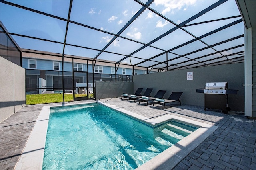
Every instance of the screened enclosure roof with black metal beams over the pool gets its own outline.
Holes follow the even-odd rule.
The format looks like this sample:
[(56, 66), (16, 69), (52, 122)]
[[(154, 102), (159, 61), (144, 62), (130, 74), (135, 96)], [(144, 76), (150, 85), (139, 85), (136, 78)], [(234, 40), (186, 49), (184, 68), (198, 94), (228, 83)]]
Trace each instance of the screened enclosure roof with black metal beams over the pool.
[(160, 70), (244, 62), (234, 0), (0, 2), (0, 20), (22, 49)]

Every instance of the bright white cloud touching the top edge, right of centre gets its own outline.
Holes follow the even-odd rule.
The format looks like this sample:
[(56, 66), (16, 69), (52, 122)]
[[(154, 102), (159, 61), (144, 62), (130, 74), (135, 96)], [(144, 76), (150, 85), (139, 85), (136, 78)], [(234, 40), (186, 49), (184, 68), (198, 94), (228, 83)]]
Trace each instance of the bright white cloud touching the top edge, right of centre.
[[(174, 10), (180, 10), (186, 6), (192, 6), (196, 3), (196, 0), (155, 0), (154, 4), (156, 6), (164, 6), (161, 14), (166, 14), (168, 12), (174, 12)], [(185, 10), (186, 8), (184, 8)]]

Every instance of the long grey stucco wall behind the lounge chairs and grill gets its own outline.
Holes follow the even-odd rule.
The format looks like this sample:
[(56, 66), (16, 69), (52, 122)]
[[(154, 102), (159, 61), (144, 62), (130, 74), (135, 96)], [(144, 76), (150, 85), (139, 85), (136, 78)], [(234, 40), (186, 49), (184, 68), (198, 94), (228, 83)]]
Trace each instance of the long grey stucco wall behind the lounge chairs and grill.
[[(193, 80), (187, 80), (187, 72), (193, 72)], [(164, 98), (173, 91), (183, 92), (181, 102), (204, 106), (204, 94), (196, 89), (204, 88), (206, 82), (228, 82), (228, 89), (238, 89), (237, 95), (228, 95), (229, 107), (234, 111), (244, 111), (244, 63), (208, 66), (185, 70), (158, 72), (133, 76), (134, 90), (153, 88), (151, 96), (158, 90), (167, 90)]]

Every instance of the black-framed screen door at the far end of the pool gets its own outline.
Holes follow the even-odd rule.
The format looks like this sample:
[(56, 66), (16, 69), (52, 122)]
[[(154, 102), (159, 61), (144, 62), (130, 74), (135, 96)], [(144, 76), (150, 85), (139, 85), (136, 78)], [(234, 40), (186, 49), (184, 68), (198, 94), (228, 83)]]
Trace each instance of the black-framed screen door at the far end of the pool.
[(73, 98), (74, 101), (88, 100), (88, 73), (84, 71), (73, 72)]

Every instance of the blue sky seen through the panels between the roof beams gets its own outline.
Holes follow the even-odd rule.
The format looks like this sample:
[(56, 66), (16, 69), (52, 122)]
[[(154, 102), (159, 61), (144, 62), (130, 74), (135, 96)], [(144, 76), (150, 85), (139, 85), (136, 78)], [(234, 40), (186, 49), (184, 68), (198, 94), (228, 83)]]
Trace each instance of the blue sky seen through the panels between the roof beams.
[[(8, 0), (8, 2), (32, 8), (60, 18), (68, 18), (69, 0)], [(146, 2), (147, 1), (141, 1), (141, 3)], [(171, 51), (172, 53), (168, 53), (168, 59), (174, 59), (180, 57), (180, 55), (207, 47), (207, 45), (213, 45), (220, 41), (244, 34), (244, 24), (240, 22), (222, 31), (209, 35), (208, 37), (204, 37), (201, 41), (197, 40), (184, 47), (176, 48), (187, 41), (195, 39), (195, 37), (200, 37), (219, 27), (241, 19), (241, 17), (236, 17), (187, 26), (183, 27), (183, 29), (176, 29), (165, 37), (162, 37), (162, 39), (150, 43), (158, 36), (175, 28), (176, 25), (183, 23), (215, 2), (217, 1), (155, 0), (150, 4), (150, 8), (164, 16), (167, 20), (160, 15), (155, 14), (152, 10), (146, 9), (120, 34), (121, 37), (117, 37), (113, 43), (106, 46), (113, 39), (114, 35), (116, 35), (142, 8), (142, 5), (133, 0), (74, 0), (72, 3), (70, 20), (75, 23), (86, 25), (86, 27), (75, 23), (69, 23), (66, 37), (67, 45), (65, 46), (64, 54), (94, 58), (98, 55), (99, 51), (105, 47), (106, 50), (98, 56), (98, 59), (119, 61), (132, 54), (131, 59), (127, 58), (122, 62), (137, 64), (144, 59), (154, 57), (155, 55), (170, 49), (174, 50)], [(206, 14), (186, 23), (186, 25), (238, 15), (240, 15), (240, 13), (236, 6), (236, 2), (234, 0), (229, 0), (213, 10), (210, 10)], [(4, 3), (0, 3), (0, 20), (10, 33), (64, 43), (67, 25), (66, 21), (57, 20), (50, 16), (37, 14)], [(95, 29), (91, 29), (92, 27)], [(18, 45), (24, 49), (34, 49), (54, 53), (62, 53), (63, 51), (63, 44), (40, 41), (16, 35), (12, 35), (12, 37)], [(134, 53), (134, 51), (144, 47), (147, 43), (150, 43), (153, 47), (145, 47), (137, 53)], [(216, 46), (214, 49), (206, 49), (196, 55), (180, 57), (177, 60), (172, 61), (172, 64), (175, 65), (177, 62), (189, 61), (190, 59), (243, 43), (244, 37)], [(87, 47), (89, 49), (73, 47), (71, 45)], [(227, 55), (234, 51), (240, 51), (240, 49), (224, 51), (215, 56), (219, 57), (221, 55)], [(214, 57), (214, 55), (212, 57)], [(233, 56), (233, 58), (234, 57), (237, 56)], [(157, 61), (165, 60), (166, 54), (153, 59), (153, 61), (140, 64), (140, 66), (147, 67), (156, 64)], [(201, 59), (201, 61), (205, 60)], [(197, 60), (193, 62), (196, 63)]]

